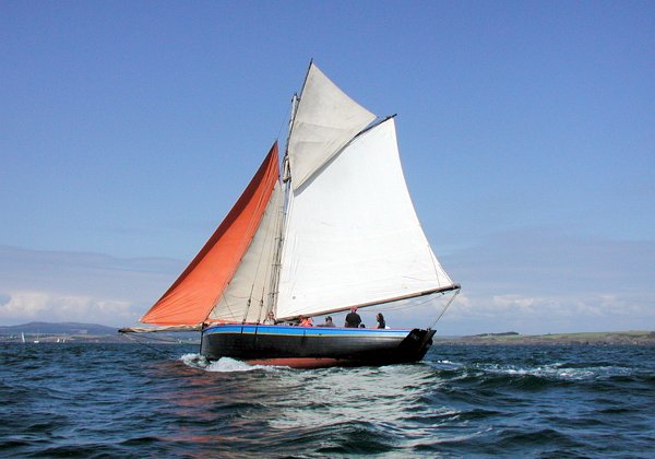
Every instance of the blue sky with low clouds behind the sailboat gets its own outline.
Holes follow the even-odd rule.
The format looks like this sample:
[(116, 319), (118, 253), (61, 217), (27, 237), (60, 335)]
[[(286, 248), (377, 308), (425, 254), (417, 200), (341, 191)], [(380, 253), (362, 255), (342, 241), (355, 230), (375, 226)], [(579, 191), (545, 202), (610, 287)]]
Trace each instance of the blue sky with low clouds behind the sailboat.
[(439, 333), (655, 330), (652, 1), (0, 0), (0, 325), (136, 323), (310, 59), (397, 114)]

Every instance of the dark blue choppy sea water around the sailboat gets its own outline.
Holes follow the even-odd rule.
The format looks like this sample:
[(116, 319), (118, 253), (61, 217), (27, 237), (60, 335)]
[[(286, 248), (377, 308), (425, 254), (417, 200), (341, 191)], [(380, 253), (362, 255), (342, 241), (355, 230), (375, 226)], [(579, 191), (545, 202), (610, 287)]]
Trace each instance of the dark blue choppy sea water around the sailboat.
[(1, 457), (653, 457), (655, 349), (436, 345), (290, 369), (194, 346), (1, 344)]

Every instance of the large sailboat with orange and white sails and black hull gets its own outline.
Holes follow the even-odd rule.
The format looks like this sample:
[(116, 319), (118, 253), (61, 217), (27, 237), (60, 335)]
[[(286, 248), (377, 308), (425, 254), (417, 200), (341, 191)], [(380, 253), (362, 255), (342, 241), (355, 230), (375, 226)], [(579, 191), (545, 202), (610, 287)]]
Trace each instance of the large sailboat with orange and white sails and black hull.
[(409, 363), (425, 356), (434, 330), (299, 320), (458, 292), (412, 204), (394, 117), (379, 119), (311, 62), (293, 98), (282, 164), (275, 142), (204, 247), (140, 319), (159, 327), (120, 331), (200, 330), (210, 361)]

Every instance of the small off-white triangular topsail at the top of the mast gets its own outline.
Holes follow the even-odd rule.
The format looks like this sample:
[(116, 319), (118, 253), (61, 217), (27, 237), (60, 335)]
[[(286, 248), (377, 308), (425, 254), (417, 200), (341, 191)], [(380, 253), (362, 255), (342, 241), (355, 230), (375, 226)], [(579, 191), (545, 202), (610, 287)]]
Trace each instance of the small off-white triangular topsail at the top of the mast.
[(288, 142), (294, 189), (374, 119), (376, 115), (353, 101), (312, 63)]

